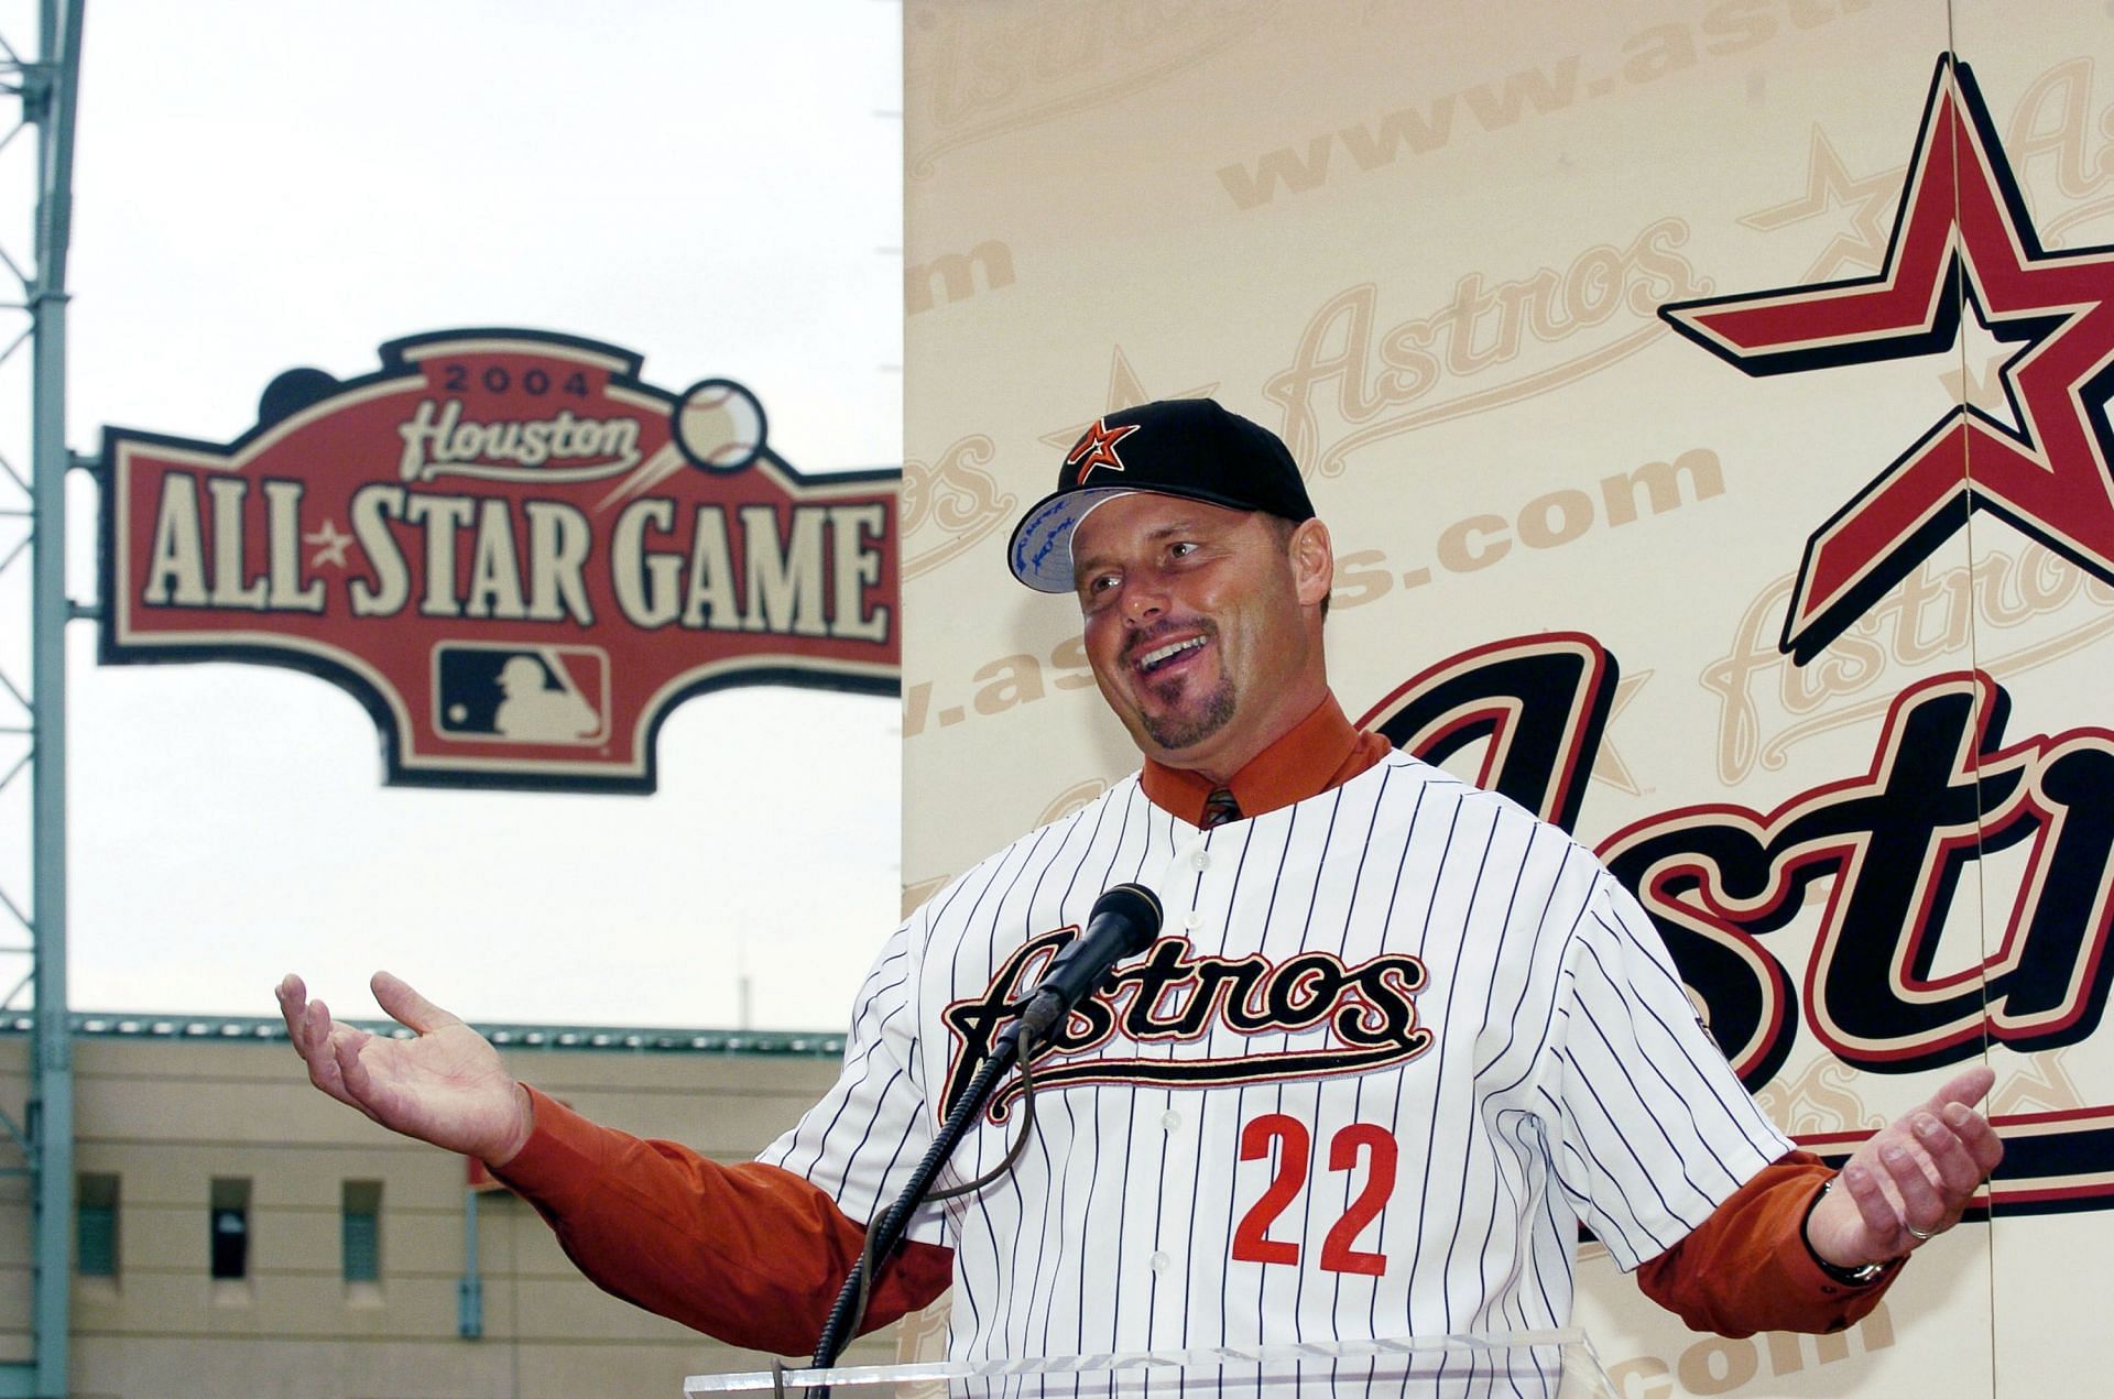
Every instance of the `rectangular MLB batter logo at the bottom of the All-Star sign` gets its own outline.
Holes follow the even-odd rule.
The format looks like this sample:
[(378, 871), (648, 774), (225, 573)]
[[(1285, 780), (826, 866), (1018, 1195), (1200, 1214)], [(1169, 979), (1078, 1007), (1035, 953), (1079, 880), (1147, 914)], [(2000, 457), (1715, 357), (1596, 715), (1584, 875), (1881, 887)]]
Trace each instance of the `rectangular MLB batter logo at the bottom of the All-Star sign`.
[(459, 742), (600, 744), (609, 653), (600, 647), (433, 647), (433, 731)]

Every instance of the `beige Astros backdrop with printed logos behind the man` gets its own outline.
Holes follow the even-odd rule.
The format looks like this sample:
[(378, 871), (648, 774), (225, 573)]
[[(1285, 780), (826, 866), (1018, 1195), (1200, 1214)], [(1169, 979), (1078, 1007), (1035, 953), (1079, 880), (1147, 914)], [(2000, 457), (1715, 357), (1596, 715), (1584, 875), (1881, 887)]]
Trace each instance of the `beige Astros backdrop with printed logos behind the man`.
[[(1930, 99), (1972, 116), (1943, 55), (1987, 125), (1941, 131), (1928, 178), (1983, 131), (2017, 194), (1939, 254), (1968, 245), (1977, 300), (2017, 283), (2038, 311), (1970, 306), (1953, 336), (1947, 277), (1850, 311), (1871, 285), (1805, 292), (1805, 342), (1736, 328), (1769, 374), (1704, 344), (1725, 321), (1676, 334), (1670, 302), (1907, 277)], [(1670, 852), (1651, 907), (1691, 983), (1774, 985), (1778, 1033), (1733, 1048), (1786, 1131), (1846, 1152), (1943, 1061), (1998, 1071), (1994, 1224), (1848, 1338), (1698, 1338), (1588, 1251), (1579, 1317), (1624, 1393), (2078, 1393), (2114, 1283), (2114, 558), (2080, 408), (2114, 357), (2091, 254), (2114, 243), (2110, 57), (2084, 2), (909, 4), (907, 898), (1135, 767), (1076, 611), (1010, 583), (1004, 541), (1097, 414), (1216, 395), (1285, 435), (1334, 526), (1353, 716), (1497, 642), (1611, 657), (1605, 731), (1571, 733), (1575, 833)], [(2021, 353), (2063, 372), (2015, 402)], [(1964, 404), (1985, 416), (1939, 522), (1894, 539), (1852, 511), (1862, 573), (1795, 664), (1807, 539), (1898, 499), (1869, 488)], [(1966, 480), (1987, 509), (1953, 528)], [(1791, 850), (1801, 818), (1829, 833)], [(1763, 888), (1681, 883), (1738, 833), (1778, 841)], [(1742, 1008), (1702, 1000), (1740, 1040)]]

